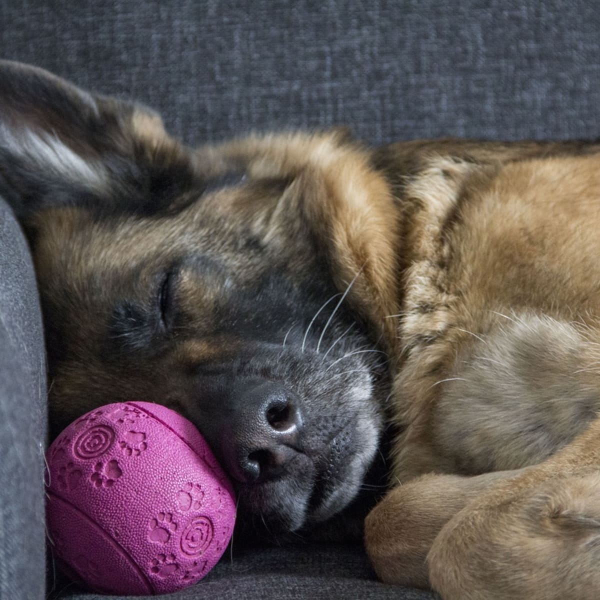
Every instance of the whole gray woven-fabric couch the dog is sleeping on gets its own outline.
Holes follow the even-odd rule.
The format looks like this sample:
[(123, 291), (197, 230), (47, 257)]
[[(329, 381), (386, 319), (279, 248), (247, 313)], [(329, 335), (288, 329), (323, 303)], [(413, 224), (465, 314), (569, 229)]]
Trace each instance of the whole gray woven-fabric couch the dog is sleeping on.
[[(0, 0), (0, 56), (134, 97), (190, 145), (350, 125), (370, 143), (443, 135), (595, 137), (595, 0)], [(0, 107), (1, 110), (1, 107)], [(40, 310), (0, 200), (0, 598), (97, 598), (49, 563)], [(360, 545), (228, 554), (171, 598), (434, 598), (374, 580)]]

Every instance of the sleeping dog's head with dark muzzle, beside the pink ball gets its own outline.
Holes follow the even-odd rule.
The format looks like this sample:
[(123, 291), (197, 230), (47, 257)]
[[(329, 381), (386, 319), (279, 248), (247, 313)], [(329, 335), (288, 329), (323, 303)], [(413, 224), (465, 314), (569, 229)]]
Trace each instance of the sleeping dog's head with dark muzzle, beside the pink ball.
[(199, 427), (241, 515), (296, 530), (356, 496), (397, 311), (366, 154), (339, 133), (189, 151), (147, 109), (4, 62), (0, 194), (32, 245), (54, 433), (153, 401)]

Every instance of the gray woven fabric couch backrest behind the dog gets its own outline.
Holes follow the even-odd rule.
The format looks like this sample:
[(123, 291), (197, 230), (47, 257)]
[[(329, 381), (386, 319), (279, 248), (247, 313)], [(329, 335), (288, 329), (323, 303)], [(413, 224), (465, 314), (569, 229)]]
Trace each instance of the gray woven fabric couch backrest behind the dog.
[(139, 98), (187, 143), (598, 134), (595, 0), (0, 0), (0, 55)]

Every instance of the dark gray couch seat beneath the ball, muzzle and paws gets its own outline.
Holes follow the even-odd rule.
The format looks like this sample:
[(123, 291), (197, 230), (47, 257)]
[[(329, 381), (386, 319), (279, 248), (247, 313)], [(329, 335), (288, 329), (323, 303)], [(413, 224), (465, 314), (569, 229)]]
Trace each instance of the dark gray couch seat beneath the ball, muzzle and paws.
[[(235, 547), (234, 547), (235, 548)], [(61, 600), (122, 600), (68, 587)], [(373, 581), (364, 553), (346, 545), (265, 548), (227, 555), (195, 586), (165, 600), (439, 600), (422, 590)]]

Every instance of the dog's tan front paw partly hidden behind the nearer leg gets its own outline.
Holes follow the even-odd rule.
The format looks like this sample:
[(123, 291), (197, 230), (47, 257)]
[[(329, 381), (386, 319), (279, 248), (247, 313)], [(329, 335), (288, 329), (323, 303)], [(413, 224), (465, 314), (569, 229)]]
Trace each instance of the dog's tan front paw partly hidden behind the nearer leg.
[(442, 527), (491, 485), (518, 473), (425, 475), (395, 487), (365, 521), (365, 543), (377, 576), (387, 583), (430, 587), (427, 554)]

